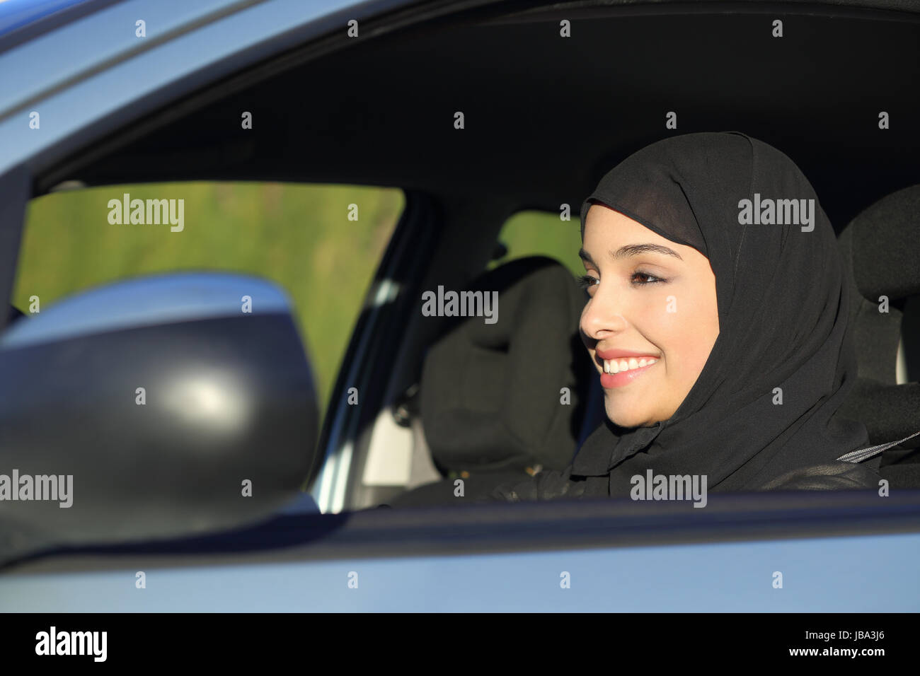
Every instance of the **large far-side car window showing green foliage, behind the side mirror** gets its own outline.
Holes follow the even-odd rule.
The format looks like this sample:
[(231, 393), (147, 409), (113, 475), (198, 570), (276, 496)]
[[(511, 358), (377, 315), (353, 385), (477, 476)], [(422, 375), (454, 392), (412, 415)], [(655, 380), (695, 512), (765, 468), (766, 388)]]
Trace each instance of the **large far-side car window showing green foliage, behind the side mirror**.
[[(131, 223), (133, 200), (156, 201), (144, 223)], [(323, 414), (403, 205), (399, 189), (341, 185), (197, 182), (53, 192), (29, 203), (13, 304), (29, 315), (76, 292), (151, 273), (266, 278), (291, 298)]]

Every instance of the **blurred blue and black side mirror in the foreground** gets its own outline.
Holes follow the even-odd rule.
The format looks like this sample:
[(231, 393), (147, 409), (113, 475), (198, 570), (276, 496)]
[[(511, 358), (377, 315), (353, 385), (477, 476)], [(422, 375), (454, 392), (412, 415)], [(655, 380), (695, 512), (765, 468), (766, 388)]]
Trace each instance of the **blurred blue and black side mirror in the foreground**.
[(268, 516), (316, 452), (313, 375), (274, 284), (113, 284), (0, 335), (0, 560)]

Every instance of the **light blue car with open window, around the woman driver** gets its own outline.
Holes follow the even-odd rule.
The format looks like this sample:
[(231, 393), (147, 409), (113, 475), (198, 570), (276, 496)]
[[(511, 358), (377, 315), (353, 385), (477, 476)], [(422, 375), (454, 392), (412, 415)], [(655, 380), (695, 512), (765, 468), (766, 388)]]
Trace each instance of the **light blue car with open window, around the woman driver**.
[[(0, 3), (0, 292), (18, 305), (0, 314), (0, 609), (920, 610), (918, 11)], [(865, 426), (883, 486), (696, 506), (495, 499), (562, 471), (605, 424), (578, 343), (584, 292), (552, 292), (574, 288), (571, 213), (638, 148), (733, 129), (792, 157), (834, 223), (858, 367), (842, 412)], [(236, 186), (401, 200), (346, 339), (330, 341), (338, 365), (311, 359), (305, 333), (333, 330), (339, 280), (362, 272), (308, 233), (289, 274), (327, 266), (328, 304), (306, 311), (283, 284), (225, 269), (217, 244), (201, 269), (144, 274), (138, 249), (136, 275), (40, 311), (12, 302), (17, 276), (107, 259), (108, 235), (80, 248), (72, 232), (23, 277), (40, 200), (90, 195), (99, 232), (145, 229), (180, 256), (172, 243), (201, 231), (198, 193), (181, 190), (202, 182), (254, 228), (242, 251), (276, 231)], [(118, 188), (143, 184), (178, 187)], [(342, 214), (372, 209), (351, 194)], [(305, 203), (298, 232), (327, 218)], [(521, 214), (552, 235), (514, 244), (530, 236)], [(373, 220), (328, 232), (375, 246)]]

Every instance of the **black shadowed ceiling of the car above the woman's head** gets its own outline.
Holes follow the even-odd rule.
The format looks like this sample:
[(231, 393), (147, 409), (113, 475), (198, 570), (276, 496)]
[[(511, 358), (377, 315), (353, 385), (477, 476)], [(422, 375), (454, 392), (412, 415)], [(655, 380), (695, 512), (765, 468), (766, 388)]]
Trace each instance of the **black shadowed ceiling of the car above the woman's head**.
[[(737, 6), (744, 13), (676, 5), (668, 15), (658, 5), (645, 14), (609, 7), (532, 11), (525, 20), (471, 16), (356, 40), (124, 147), (113, 137), (39, 188), (64, 178), (303, 180), (500, 191), (521, 208), (558, 211), (581, 203), (608, 168), (648, 143), (729, 130), (792, 157), (838, 232), (872, 201), (918, 182), (916, 18)], [(559, 17), (571, 21), (572, 37), (559, 37)], [(771, 37), (775, 18), (782, 38)], [(244, 110), (253, 113), (251, 131), (240, 128)], [(881, 110), (891, 116), (885, 131)], [(456, 111), (464, 130), (454, 129)], [(675, 131), (665, 129), (668, 111), (677, 113)]]

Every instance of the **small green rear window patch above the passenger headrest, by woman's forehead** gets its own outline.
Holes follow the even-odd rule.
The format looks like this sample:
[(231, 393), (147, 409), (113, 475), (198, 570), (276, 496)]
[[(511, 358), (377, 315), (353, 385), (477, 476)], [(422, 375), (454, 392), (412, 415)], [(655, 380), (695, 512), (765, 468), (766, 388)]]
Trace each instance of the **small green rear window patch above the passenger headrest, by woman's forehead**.
[(516, 212), (502, 226), (501, 244), (508, 248), (504, 258), (493, 260), (495, 268), (515, 258), (548, 256), (556, 258), (573, 275), (583, 275), (584, 266), (578, 257), (581, 247), (581, 221), (576, 216), (563, 221), (558, 213), (528, 210)]

